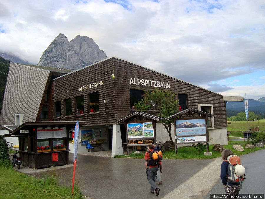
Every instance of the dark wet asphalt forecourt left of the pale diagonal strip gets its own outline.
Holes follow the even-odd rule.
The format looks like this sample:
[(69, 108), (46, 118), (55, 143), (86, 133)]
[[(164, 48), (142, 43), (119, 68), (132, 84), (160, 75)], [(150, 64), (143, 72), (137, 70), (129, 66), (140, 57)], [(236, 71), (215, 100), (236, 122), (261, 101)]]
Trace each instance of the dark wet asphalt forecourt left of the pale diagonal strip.
[[(213, 159), (163, 159), (161, 175), (163, 185), (158, 185), (160, 193), (156, 197), (155, 194), (150, 193), (144, 159), (78, 154), (75, 183), (78, 183), (83, 195), (89, 198), (163, 198), (212, 161)], [(55, 172), (61, 184), (71, 187), (73, 176), (71, 162), (73, 154), (69, 153), (70, 164), (67, 167), (60, 166), (61, 168), (55, 167), (45, 171), (39, 169), (29, 172), (29, 175), (42, 177)]]

